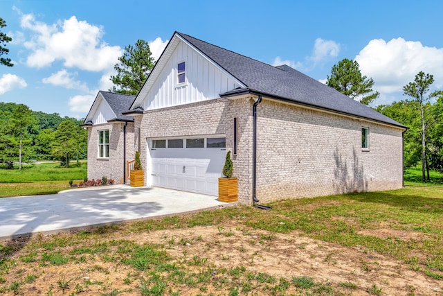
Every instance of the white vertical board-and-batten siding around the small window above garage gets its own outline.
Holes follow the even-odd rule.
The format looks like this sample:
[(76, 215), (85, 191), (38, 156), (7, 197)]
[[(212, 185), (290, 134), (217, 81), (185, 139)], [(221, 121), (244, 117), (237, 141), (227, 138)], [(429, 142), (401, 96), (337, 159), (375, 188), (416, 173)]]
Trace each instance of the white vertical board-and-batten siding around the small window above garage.
[[(185, 83), (177, 84), (177, 64), (186, 63)], [(144, 110), (219, 98), (239, 85), (188, 44), (179, 42), (163, 71), (143, 100)]]

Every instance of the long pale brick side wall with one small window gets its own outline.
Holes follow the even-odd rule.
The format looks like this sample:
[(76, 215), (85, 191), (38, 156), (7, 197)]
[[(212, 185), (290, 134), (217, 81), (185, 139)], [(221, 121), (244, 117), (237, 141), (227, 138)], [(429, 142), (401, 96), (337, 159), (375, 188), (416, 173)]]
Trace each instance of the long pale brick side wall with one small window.
[[(269, 201), (399, 189), (402, 130), (262, 101), (257, 108), (257, 198)], [(369, 150), (361, 128), (369, 128)]]

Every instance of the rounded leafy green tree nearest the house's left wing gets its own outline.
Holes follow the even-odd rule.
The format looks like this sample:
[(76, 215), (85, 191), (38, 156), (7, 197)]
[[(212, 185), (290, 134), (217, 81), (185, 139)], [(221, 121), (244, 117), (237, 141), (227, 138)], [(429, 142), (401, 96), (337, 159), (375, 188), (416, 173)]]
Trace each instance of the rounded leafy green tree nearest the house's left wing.
[(60, 159), (66, 168), (69, 168), (71, 159), (79, 159), (84, 155), (85, 133), (85, 130), (71, 120), (62, 121), (55, 130), (52, 155)]

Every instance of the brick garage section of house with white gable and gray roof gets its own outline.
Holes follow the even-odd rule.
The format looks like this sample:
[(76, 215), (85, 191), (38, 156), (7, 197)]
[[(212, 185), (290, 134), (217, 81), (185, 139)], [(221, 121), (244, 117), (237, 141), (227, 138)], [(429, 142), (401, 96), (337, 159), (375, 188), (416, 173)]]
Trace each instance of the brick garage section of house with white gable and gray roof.
[(404, 125), (287, 65), (183, 33), (128, 109), (147, 186), (217, 196), (227, 150), (245, 204), (403, 184)]

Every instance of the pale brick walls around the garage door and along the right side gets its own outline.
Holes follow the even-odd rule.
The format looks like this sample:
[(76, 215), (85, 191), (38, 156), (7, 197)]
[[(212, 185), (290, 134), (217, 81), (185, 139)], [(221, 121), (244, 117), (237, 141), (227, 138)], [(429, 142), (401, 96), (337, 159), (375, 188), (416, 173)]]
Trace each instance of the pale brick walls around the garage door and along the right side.
[[(141, 128), (141, 162), (152, 137), (226, 134), (233, 150), (233, 118), (238, 121), (239, 202), (251, 204), (253, 99), (215, 99), (150, 110), (136, 115), (134, 147)], [(361, 128), (369, 128), (369, 151), (361, 148)], [(96, 143), (96, 142), (95, 142)], [(257, 198), (313, 197), (402, 186), (402, 130), (264, 99), (257, 107)], [(146, 174), (145, 174), (146, 181)]]

